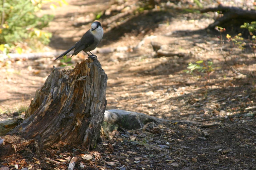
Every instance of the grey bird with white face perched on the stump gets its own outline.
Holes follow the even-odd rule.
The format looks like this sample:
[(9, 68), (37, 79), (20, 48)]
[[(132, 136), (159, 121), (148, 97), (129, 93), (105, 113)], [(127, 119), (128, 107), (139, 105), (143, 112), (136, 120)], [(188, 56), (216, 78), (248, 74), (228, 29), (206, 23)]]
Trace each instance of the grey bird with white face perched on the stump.
[[(86, 31), (86, 33), (82, 36), (82, 38), (70, 49), (63, 52), (59, 57), (57, 57), (54, 61), (59, 59), (60, 57), (63, 57), (66, 55), (69, 51), (74, 50), (73, 55), (77, 55), (80, 51), (84, 51), (88, 57), (91, 57), (92, 59), (97, 59), (97, 56), (91, 53), (92, 50), (94, 50), (99, 43), (101, 42), (103, 37), (103, 28), (101, 26), (101, 23), (98, 21), (94, 21), (91, 24), (91, 29)], [(90, 52), (91, 55), (89, 55), (87, 52)], [(71, 57), (72, 57), (71, 56)]]

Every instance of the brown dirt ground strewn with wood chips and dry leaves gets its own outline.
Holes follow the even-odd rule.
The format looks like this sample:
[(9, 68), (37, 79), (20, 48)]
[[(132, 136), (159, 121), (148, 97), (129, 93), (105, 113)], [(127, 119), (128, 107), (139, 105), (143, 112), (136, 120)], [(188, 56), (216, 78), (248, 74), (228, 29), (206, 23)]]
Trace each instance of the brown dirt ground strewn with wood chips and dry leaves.
[[(93, 159), (80, 158), (75, 169), (256, 169), (256, 59), (250, 48), (234, 48), (227, 61), (246, 76), (230, 70), (219, 50), (219, 33), (205, 29), (213, 22), (213, 14), (188, 13), (183, 8), (195, 4), (171, 1), (165, 10), (135, 12), (108, 23), (118, 13), (118, 7), (125, 12), (137, 8), (139, 2), (68, 3), (55, 11), (43, 11), (56, 16), (46, 28), (53, 33), (47, 48), (50, 51), (70, 48), (90, 28), (96, 15), (115, 9), (99, 19), (105, 30), (99, 48), (107, 50), (96, 55), (108, 75), (106, 110), (122, 109), (168, 120), (216, 125), (150, 123), (145, 130), (120, 130), (92, 152), (70, 145), (45, 151), (42, 157), (62, 159), (59, 163), (43, 161), (41, 156), (26, 150), (7, 158), (3, 166), (67, 169), (70, 157), (91, 154)], [(239, 6), (240, 1), (237, 3)], [(248, 5), (251, 1), (244, 3)], [(184, 55), (157, 55), (152, 42), (166, 44), (168, 51)], [(228, 54), (230, 44), (226, 43), (223, 49)], [(53, 65), (72, 69), (61, 67), (60, 61), (54, 62), (56, 57), (0, 63), (0, 119), (24, 115)], [(70, 63), (75, 65), (86, 57), (79, 53)], [(215, 71), (210, 80), (205, 78), (206, 73), (184, 72), (190, 62), (199, 60), (213, 62)], [(35, 163), (33, 157), (41, 164)]]

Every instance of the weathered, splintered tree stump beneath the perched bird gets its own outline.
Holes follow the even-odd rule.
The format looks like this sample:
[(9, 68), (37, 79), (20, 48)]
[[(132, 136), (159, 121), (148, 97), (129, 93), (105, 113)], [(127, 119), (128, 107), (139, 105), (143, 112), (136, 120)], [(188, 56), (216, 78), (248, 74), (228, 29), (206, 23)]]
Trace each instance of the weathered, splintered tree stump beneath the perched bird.
[(73, 70), (54, 68), (36, 91), (23, 123), (10, 134), (37, 140), (43, 147), (61, 141), (93, 149), (107, 105), (107, 79), (100, 63), (90, 58)]

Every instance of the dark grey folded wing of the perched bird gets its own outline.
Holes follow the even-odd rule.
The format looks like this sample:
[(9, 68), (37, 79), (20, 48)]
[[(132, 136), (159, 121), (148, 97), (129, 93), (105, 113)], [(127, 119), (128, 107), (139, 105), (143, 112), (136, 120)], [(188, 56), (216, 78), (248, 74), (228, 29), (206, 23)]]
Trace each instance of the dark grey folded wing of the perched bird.
[(89, 47), (91, 44), (94, 43), (94, 36), (90, 33), (90, 30), (88, 30), (82, 38), (78, 41), (77, 47), (74, 50), (73, 55), (77, 55), (80, 51), (86, 49)]

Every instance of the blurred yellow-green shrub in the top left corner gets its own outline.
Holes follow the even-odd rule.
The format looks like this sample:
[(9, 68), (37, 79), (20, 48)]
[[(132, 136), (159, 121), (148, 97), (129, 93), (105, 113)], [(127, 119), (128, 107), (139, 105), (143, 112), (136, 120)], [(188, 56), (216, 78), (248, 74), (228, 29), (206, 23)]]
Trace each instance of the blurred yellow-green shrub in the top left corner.
[[(41, 10), (42, 3), (49, 2), (67, 4), (65, 0), (0, 0), (0, 50), (3, 51), (3, 44), (8, 44), (9, 47), (27, 44), (34, 49), (41, 47), (42, 44), (47, 45), (52, 35), (42, 29), (54, 16), (38, 17), (36, 12)], [(50, 7), (52, 8), (53, 4)]]

